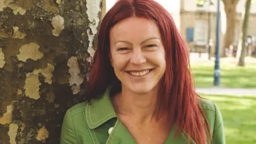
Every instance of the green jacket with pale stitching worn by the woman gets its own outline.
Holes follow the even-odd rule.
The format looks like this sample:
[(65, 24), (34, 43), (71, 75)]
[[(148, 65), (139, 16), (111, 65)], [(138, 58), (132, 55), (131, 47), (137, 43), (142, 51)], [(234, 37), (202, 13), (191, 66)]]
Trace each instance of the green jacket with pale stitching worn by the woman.
[[(225, 143), (223, 133), (223, 122), (220, 110), (215, 103), (208, 100), (201, 100), (205, 110), (207, 120), (213, 133), (213, 143)], [(111, 130), (110, 127), (114, 127)], [(180, 133), (177, 139), (174, 139), (175, 125), (171, 130), (167, 143), (187, 144), (185, 135)], [(91, 102), (79, 103), (67, 110), (63, 119), (60, 144), (101, 144), (101, 143), (135, 143), (131, 134), (125, 126), (116, 117), (113, 106), (109, 98), (109, 90), (103, 94), (103, 97)], [(195, 143), (192, 141), (191, 143)]]

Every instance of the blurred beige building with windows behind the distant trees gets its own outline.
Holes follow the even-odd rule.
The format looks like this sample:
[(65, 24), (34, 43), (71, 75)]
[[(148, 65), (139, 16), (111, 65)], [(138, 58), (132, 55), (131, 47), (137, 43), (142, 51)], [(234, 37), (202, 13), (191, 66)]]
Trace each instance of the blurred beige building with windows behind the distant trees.
[[(235, 41), (234, 49), (236, 49), (239, 41), (239, 33), (242, 26), (242, 12), (244, 11), (244, 5), (246, 0), (240, 0), (237, 4), (236, 11), (236, 29), (235, 29)], [(216, 34), (216, 12), (217, 12), (217, 0), (212, 0), (212, 4), (205, 4), (202, 7), (196, 5), (196, 0), (180, 0), (180, 30), (181, 34), (190, 47), (191, 52), (202, 51), (206, 52), (206, 45), (208, 41), (208, 34), (212, 42), (211, 54), (214, 54), (215, 49), (215, 34)], [(256, 37), (256, 3), (251, 5), (251, 15), (249, 21), (249, 28), (247, 35)], [(221, 1), (221, 22), (220, 22), (220, 46), (223, 44), (223, 36), (226, 32), (226, 13), (224, 11), (224, 5)], [(210, 19), (210, 24), (209, 24)], [(210, 28), (210, 29), (208, 29)], [(255, 39), (255, 38), (254, 38)], [(256, 40), (256, 39), (255, 39)], [(253, 44), (256, 44), (256, 41)]]

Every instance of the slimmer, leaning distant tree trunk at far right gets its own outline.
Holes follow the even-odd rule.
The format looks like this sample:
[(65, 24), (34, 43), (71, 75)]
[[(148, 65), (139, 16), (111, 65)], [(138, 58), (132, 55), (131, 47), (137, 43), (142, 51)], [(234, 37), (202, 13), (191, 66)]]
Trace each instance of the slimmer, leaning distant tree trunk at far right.
[(244, 66), (244, 58), (246, 53), (246, 37), (247, 37), (247, 28), (250, 16), (250, 7), (251, 7), (252, 0), (247, 0), (245, 4), (244, 14), (243, 14), (243, 26), (242, 26), (242, 36), (240, 38), (240, 42), (238, 44), (237, 50), (237, 59), (238, 59), (238, 66)]

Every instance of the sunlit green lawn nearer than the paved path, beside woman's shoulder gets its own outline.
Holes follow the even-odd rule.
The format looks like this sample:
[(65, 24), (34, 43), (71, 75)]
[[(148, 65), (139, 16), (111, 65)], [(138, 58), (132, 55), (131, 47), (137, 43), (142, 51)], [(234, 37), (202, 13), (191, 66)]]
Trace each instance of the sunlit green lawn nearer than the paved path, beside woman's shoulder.
[(256, 143), (256, 97), (202, 95), (217, 103), (225, 126), (226, 143)]

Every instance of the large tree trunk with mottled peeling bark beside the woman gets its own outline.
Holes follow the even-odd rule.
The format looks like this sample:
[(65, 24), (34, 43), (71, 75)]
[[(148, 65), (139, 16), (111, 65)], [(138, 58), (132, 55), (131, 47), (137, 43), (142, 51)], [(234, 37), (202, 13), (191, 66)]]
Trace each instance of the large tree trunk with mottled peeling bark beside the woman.
[(101, 0), (9, 0), (0, 11), (0, 143), (59, 143), (66, 110), (84, 101)]

